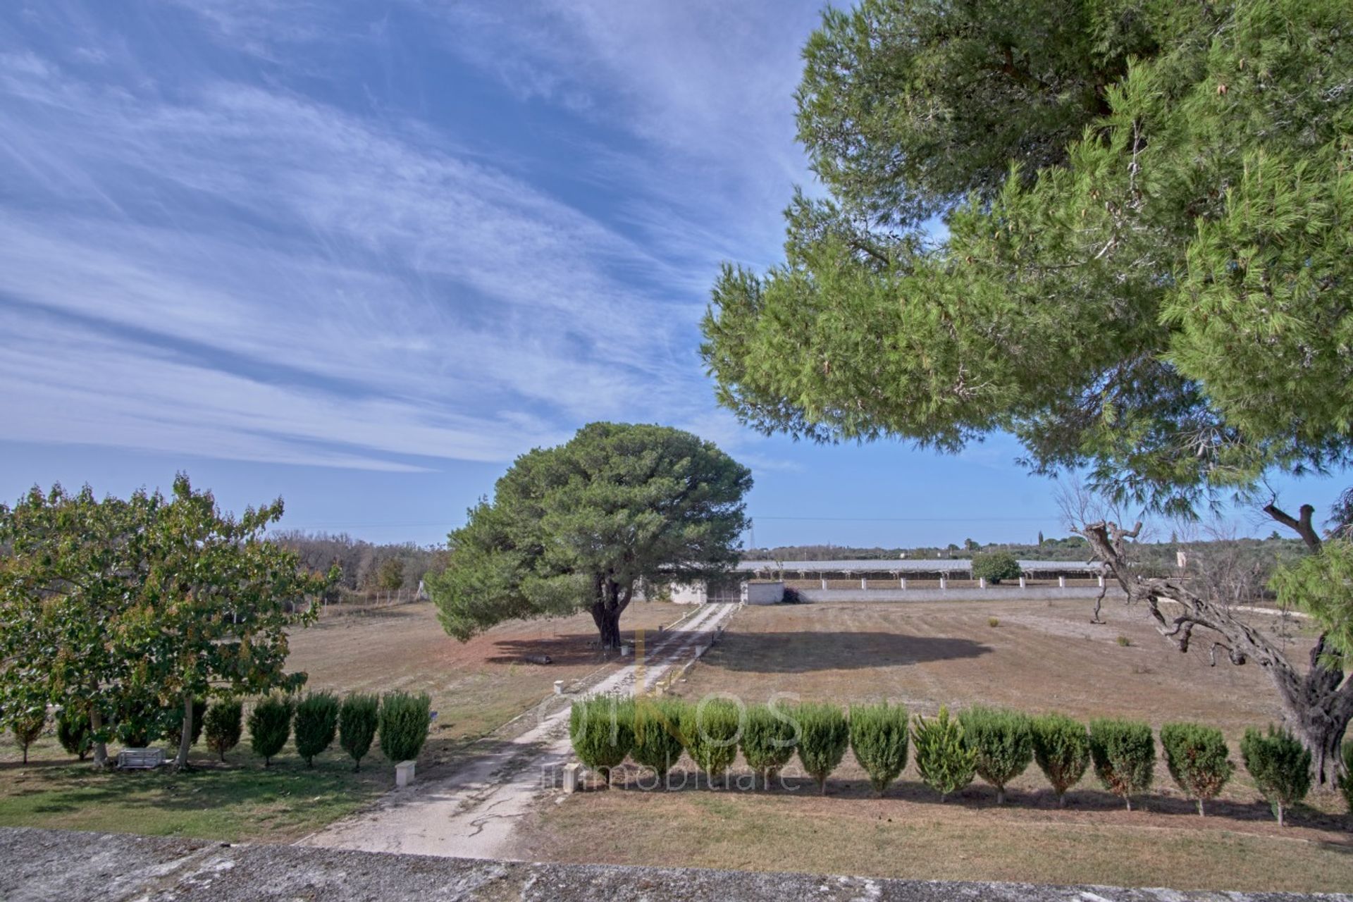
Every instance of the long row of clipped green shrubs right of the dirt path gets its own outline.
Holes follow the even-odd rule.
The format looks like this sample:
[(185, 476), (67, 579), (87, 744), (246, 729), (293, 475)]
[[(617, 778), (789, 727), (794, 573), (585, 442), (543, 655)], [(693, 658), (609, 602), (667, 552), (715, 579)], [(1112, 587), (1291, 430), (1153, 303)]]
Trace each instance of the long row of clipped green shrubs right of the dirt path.
[[(957, 717), (942, 707), (927, 718), (888, 703), (852, 705), (847, 714), (817, 702), (744, 709), (725, 699), (691, 705), (595, 696), (574, 702), (570, 738), (579, 760), (607, 783), (626, 757), (662, 779), (686, 752), (713, 784), (740, 749), (767, 788), (797, 753), (804, 771), (825, 791), (848, 746), (882, 795), (905, 769), (912, 749), (921, 780), (942, 801), (980, 776), (996, 788), (997, 805), (1004, 805), (1005, 787), (1036, 764), (1058, 803), (1065, 805), (1066, 791), (1093, 767), (1100, 784), (1128, 810), (1134, 797), (1150, 790), (1157, 757), (1147, 723), (1096, 718), (1085, 725), (1063, 714), (1028, 715), (982, 706)], [(1226, 738), (1211, 726), (1166, 723), (1160, 740), (1170, 778), (1201, 815), (1204, 803), (1216, 798), (1235, 772)], [(1311, 788), (1310, 752), (1287, 730), (1270, 726), (1266, 733), (1246, 730), (1241, 757), (1283, 824), (1287, 809)], [(1345, 744), (1344, 757), (1353, 769), (1353, 741)], [(1353, 779), (1345, 779), (1342, 788), (1353, 810)]]

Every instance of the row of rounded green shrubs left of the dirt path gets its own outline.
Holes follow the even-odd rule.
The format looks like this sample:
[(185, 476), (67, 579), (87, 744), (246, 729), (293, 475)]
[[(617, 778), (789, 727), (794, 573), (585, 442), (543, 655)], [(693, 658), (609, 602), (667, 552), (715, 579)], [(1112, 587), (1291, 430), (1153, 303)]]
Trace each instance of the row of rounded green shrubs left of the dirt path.
[[(257, 699), (249, 710), (249, 746), (262, 759), (264, 767), (272, 765), (295, 740), (296, 753), (306, 760), (306, 767), (314, 767), (317, 756), (326, 752), (338, 740), (338, 745), (353, 760), (353, 769), (361, 769), (361, 759), (371, 751), (373, 741), (380, 742), (380, 751), (391, 761), (406, 761), (418, 757), (432, 719), (432, 699), (426, 692), (386, 692), (383, 696), (352, 692), (340, 699), (333, 692), (308, 692), (304, 696), (265, 695)], [(239, 744), (244, 736), (244, 702), (238, 698), (221, 698), (210, 706), (206, 701), (193, 703), (192, 745), (206, 738), (207, 748), (226, 760), (226, 753)], [(46, 711), (34, 711), (24, 718), (12, 721), (15, 742), (28, 760), (28, 746), (37, 741), (46, 726)], [(89, 719), (68, 715), (61, 711), (55, 717), (57, 740), (61, 746), (80, 760), (89, 753), (93, 738)], [(141, 737), (138, 737), (141, 738)], [(145, 738), (149, 744), (156, 737)], [(179, 733), (165, 737), (172, 745), (179, 745)]]

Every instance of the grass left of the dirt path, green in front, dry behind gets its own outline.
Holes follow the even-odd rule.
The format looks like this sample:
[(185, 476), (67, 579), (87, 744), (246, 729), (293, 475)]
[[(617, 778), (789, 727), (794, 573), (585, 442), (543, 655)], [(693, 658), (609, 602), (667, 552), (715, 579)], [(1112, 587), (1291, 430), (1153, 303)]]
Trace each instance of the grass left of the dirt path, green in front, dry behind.
[[(636, 603), (626, 630), (656, 629), (689, 609)], [(553, 692), (553, 682), (617, 665), (589, 646), (595, 627), (586, 614), (557, 621), (505, 623), (460, 644), (437, 622), (432, 604), (340, 606), (292, 637), (288, 665), (310, 675), (311, 688), (426, 691), (438, 711), (419, 756), (419, 775), (453, 767), (476, 737)], [(525, 656), (549, 655), (551, 664)], [(491, 742), (492, 740), (484, 740)], [(116, 746), (110, 748), (111, 752)], [(360, 774), (337, 744), (306, 768), (288, 748), (264, 769), (249, 738), (221, 764), (203, 746), (187, 774), (95, 772), (68, 756), (50, 730), (30, 749), (28, 764), (5, 736), (0, 744), (0, 826), (47, 826), (229, 841), (287, 841), (368, 805), (394, 784), (392, 768), (372, 748)]]

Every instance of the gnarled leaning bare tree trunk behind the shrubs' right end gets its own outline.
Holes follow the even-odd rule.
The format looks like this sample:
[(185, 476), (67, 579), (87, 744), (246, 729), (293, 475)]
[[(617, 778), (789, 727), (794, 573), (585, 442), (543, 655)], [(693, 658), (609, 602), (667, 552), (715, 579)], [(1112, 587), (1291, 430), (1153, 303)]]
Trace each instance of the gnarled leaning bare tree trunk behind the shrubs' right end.
[[(1270, 506), (1272, 507), (1272, 506)], [(1279, 522), (1292, 521), (1312, 549), (1318, 550), (1318, 540), (1310, 541), (1310, 504), (1302, 508), (1302, 521), (1273, 513)], [(1285, 519), (1284, 519), (1285, 518)], [(1137, 529), (1141, 529), (1138, 525)], [(1311, 764), (1321, 786), (1338, 786), (1342, 771), (1339, 744), (1353, 719), (1353, 679), (1345, 679), (1342, 663), (1331, 661), (1327, 667), (1322, 659), (1331, 657), (1325, 636), (1321, 636), (1311, 649), (1311, 665), (1302, 673), (1287, 660), (1283, 649), (1264, 633), (1243, 623), (1231, 614), (1229, 606), (1211, 602), (1181, 580), (1134, 575), (1127, 563), (1124, 540), (1137, 536), (1137, 529), (1124, 530), (1116, 523), (1088, 523), (1082, 534), (1095, 549), (1095, 556), (1104, 561), (1109, 572), (1127, 592), (1128, 603), (1145, 603), (1155, 630), (1173, 642), (1181, 652), (1188, 652), (1193, 630), (1212, 633), (1211, 657), (1216, 664), (1218, 650), (1226, 653), (1233, 664), (1257, 663), (1273, 680), (1283, 701), (1283, 711), (1288, 726), (1307, 749), (1311, 751)], [(1162, 603), (1174, 602), (1168, 610)], [(1176, 607), (1177, 604), (1177, 607)]]

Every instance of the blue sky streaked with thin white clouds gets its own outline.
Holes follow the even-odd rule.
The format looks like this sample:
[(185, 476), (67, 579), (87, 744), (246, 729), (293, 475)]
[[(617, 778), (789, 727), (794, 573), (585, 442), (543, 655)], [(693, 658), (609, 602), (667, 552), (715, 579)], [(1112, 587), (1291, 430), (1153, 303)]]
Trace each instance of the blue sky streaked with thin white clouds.
[(0, 496), (185, 469), (285, 525), (433, 542), (515, 454), (617, 419), (752, 467), (762, 545), (1063, 531), (1007, 437), (819, 448), (713, 403), (717, 266), (774, 262), (812, 188), (819, 7), (9, 0)]

